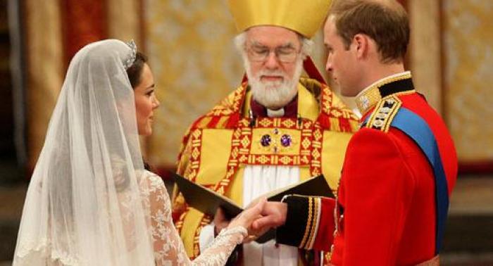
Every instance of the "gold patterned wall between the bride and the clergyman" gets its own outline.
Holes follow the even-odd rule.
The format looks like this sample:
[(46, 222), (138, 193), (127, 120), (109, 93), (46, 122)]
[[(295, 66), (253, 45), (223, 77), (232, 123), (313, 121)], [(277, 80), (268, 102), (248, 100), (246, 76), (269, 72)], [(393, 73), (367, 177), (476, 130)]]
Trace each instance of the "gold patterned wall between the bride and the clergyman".
[(161, 107), (148, 159), (173, 166), (182, 135), (242, 80), (226, 1), (144, 1), (146, 48)]

